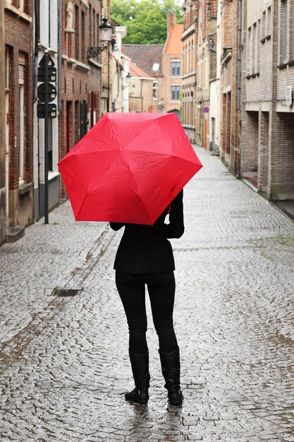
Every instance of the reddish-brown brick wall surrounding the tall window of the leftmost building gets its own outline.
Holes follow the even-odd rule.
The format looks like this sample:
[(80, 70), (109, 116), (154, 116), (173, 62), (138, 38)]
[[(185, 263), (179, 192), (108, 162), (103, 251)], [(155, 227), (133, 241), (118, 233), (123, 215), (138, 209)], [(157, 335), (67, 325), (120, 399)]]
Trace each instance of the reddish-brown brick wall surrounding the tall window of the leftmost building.
[(32, 222), (32, 189), (20, 195), (20, 94), (19, 63), (24, 62), (24, 126), (23, 126), (23, 181), (33, 180), (32, 149), (32, 1), (25, 2), (25, 10), (20, 11), (18, 4), (4, 4), (5, 44), (9, 59), (9, 219), (12, 226), (27, 225)]

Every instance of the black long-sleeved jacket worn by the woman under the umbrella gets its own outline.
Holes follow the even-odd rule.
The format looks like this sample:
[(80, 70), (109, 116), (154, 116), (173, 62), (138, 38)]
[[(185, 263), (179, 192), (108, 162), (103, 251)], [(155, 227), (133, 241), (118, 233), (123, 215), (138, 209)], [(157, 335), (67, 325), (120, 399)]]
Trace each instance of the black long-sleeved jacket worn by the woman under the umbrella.
[[(165, 224), (168, 212), (169, 224)], [(183, 190), (152, 226), (120, 222), (111, 222), (110, 226), (114, 230), (125, 226), (114, 261), (116, 270), (128, 273), (164, 273), (175, 270), (173, 249), (168, 238), (180, 238), (184, 233)]]

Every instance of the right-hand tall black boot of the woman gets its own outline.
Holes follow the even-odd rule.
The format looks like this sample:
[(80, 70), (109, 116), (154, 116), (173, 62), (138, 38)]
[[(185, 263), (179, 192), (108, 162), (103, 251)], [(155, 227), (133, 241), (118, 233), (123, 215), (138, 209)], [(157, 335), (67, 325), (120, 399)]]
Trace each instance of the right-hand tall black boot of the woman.
[(159, 350), (159, 356), (169, 402), (171, 405), (180, 405), (183, 401), (183, 394), (180, 391), (180, 350), (177, 348), (171, 353)]

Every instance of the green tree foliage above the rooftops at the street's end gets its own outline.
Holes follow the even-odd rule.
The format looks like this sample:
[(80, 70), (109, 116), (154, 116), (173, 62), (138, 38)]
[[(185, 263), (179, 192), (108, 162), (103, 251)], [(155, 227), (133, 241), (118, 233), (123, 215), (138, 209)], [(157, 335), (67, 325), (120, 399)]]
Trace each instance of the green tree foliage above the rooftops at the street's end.
[(176, 13), (177, 23), (183, 22), (176, 0), (111, 0), (111, 17), (128, 27), (123, 43), (164, 44), (169, 11)]

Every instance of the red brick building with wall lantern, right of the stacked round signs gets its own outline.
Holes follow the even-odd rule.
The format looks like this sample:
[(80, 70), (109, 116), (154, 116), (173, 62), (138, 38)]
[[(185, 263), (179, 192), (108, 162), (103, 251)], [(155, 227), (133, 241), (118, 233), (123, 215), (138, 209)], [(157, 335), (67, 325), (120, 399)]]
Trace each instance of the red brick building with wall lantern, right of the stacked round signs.
[[(109, 59), (111, 48), (94, 56), (88, 47), (102, 47), (99, 25), (102, 1), (63, 1), (62, 90), (60, 157), (64, 157), (109, 106)], [(102, 56), (105, 79), (102, 84)], [(102, 94), (102, 87), (104, 93)], [(100, 103), (105, 98), (103, 107)], [(100, 100), (101, 99), (101, 100)], [(64, 196), (61, 188), (61, 196)]]

